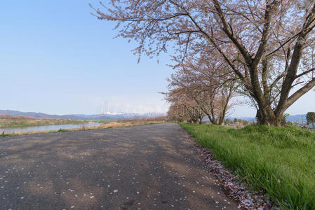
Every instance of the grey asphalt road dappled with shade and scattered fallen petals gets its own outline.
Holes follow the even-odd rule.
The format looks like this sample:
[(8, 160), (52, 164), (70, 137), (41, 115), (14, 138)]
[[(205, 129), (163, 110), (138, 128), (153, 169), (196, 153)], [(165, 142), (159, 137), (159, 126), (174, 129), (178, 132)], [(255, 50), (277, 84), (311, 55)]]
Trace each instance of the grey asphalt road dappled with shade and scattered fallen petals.
[(237, 209), (174, 123), (0, 137), (0, 209)]

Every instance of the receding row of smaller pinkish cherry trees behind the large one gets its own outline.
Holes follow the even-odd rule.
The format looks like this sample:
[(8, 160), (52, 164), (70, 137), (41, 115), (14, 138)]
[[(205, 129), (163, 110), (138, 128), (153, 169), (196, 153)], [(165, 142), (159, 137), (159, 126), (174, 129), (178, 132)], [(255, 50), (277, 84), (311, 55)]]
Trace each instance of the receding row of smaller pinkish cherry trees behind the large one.
[(229, 68), (215, 55), (212, 59), (190, 57), (175, 66), (177, 71), (169, 79), (166, 100), (170, 102), (171, 120), (201, 123), (208, 117), (210, 123), (222, 125), (235, 102), (238, 85)]

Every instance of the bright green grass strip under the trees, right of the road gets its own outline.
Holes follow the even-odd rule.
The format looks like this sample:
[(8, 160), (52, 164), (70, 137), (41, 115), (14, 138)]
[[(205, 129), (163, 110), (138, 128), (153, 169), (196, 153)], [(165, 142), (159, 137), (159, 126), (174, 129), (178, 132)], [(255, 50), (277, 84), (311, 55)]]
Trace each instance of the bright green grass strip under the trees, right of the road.
[(315, 132), (293, 126), (180, 126), (282, 209), (315, 209)]

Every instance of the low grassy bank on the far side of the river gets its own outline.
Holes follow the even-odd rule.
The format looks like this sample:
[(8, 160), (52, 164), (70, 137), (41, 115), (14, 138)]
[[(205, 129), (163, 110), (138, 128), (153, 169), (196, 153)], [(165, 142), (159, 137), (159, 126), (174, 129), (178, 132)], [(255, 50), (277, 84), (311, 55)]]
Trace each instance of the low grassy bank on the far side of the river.
[(82, 124), (87, 123), (83, 120), (11, 120), (11, 119), (0, 119), (0, 128), (8, 127), (31, 127), (41, 125), (62, 125), (62, 124)]

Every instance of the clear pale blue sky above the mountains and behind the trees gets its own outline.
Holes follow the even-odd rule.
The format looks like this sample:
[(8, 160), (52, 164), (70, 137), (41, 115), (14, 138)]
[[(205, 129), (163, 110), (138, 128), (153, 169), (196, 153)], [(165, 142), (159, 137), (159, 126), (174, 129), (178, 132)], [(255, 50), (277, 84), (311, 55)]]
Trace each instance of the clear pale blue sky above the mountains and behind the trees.
[[(113, 23), (97, 20), (88, 3), (99, 1), (0, 1), (0, 109), (43, 113), (98, 113), (111, 106), (166, 111), (160, 91), (173, 69), (169, 57), (130, 52), (134, 43), (114, 38)], [(288, 110), (314, 111), (314, 91)], [(238, 106), (233, 116), (254, 116)]]

